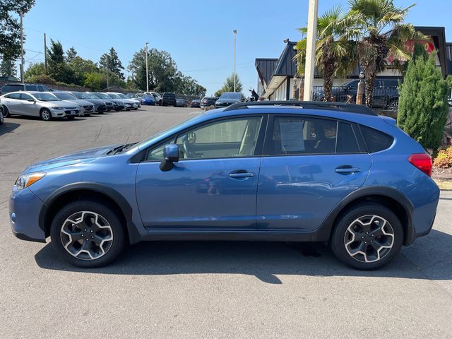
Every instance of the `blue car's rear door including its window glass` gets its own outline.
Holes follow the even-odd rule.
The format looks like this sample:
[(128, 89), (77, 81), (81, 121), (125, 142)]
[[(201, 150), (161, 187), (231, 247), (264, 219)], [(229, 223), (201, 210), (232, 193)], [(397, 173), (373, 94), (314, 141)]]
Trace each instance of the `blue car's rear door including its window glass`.
[(347, 121), (271, 117), (261, 160), (258, 230), (313, 231), (364, 184), (371, 158)]

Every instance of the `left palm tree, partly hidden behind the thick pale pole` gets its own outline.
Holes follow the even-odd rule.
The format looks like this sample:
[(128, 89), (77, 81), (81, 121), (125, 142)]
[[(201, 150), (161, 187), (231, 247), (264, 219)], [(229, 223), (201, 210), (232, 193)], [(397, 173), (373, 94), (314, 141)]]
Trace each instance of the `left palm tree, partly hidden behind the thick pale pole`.
[[(323, 100), (333, 100), (331, 90), (334, 78), (345, 78), (355, 68), (356, 58), (354, 42), (348, 40), (343, 26), (345, 15), (342, 6), (335, 6), (317, 19), (316, 58), (315, 65), (323, 76)], [(306, 59), (307, 28), (299, 28), (304, 36), (297, 42), (297, 72), (304, 74)]]

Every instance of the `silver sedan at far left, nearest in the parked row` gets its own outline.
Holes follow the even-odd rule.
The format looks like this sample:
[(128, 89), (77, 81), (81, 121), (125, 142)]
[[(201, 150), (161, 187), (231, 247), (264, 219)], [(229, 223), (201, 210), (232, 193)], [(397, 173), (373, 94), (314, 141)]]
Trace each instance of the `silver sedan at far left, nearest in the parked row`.
[(11, 92), (0, 97), (4, 117), (10, 114), (41, 117), (44, 121), (53, 118), (73, 119), (80, 114), (80, 105), (60, 100), (46, 92)]

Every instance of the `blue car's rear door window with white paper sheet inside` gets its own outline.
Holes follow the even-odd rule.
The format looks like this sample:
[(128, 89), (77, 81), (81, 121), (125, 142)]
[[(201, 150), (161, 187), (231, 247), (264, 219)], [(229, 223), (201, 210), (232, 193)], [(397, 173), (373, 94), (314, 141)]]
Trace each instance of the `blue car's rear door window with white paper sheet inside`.
[(337, 121), (275, 117), (268, 145), (270, 155), (335, 153)]

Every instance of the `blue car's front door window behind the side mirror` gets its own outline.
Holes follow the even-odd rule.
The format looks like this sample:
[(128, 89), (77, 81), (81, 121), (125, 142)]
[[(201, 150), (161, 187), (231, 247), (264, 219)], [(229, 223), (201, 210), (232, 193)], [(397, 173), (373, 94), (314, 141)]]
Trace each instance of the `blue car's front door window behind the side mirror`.
[[(262, 117), (234, 118), (195, 127), (177, 136), (179, 157), (218, 159), (254, 155)], [(174, 139), (150, 150), (147, 160), (162, 160), (163, 149)]]

